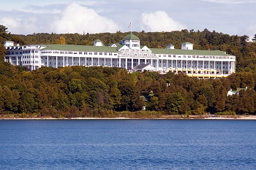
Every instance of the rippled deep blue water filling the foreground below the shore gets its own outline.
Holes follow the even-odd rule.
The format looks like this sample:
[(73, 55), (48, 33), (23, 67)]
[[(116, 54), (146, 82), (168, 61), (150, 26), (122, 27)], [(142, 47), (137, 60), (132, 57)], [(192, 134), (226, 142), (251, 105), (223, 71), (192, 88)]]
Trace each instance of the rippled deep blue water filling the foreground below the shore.
[(0, 120), (0, 169), (255, 168), (255, 120)]

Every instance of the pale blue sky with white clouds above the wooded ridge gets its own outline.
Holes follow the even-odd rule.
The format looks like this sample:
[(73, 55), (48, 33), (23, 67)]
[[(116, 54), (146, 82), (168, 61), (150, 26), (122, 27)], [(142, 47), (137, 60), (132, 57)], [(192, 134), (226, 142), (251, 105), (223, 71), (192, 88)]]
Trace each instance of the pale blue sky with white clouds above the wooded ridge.
[(24, 35), (207, 28), (252, 38), (256, 34), (256, 0), (1, 1), (0, 25), (12, 34)]

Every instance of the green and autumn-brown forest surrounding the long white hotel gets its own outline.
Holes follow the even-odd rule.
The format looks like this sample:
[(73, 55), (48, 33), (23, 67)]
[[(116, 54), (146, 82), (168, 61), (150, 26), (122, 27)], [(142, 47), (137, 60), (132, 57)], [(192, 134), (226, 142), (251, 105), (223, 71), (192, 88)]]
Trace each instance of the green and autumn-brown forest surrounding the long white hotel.
[[(200, 80), (186, 74), (133, 72), (116, 67), (72, 66), (26, 68), (4, 62), (4, 41), (20, 45), (105, 45), (128, 33), (11, 34), (0, 25), (0, 114), (39, 117), (161, 117), (162, 115), (255, 115), (256, 34), (237, 36), (216, 31), (133, 32), (140, 44), (165, 48), (192, 42), (197, 50), (223, 50), (236, 55), (236, 73)], [(252, 41), (249, 41), (252, 40)], [(227, 91), (246, 88), (227, 96)]]

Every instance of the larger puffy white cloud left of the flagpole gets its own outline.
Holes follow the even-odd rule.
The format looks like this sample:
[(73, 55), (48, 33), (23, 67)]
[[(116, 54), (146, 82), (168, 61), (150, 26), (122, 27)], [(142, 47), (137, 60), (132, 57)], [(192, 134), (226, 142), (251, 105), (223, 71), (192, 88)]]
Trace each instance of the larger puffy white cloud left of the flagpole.
[(86, 33), (116, 32), (119, 26), (108, 18), (102, 17), (87, 7), (75, 2), (67, 5), (61, 12), (61, 17), (52, 23), (53, 31), (57, 33)]

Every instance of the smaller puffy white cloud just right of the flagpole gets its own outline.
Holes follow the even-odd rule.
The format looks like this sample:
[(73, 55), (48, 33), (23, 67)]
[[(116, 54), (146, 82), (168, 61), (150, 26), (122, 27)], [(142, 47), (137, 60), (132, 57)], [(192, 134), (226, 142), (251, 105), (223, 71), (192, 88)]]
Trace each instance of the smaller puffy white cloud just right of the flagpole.
[(170, 18), (166, 12), (143, 13), (141, 15), (141, 29), (144, 31), (179, 31), (187, 26)]

